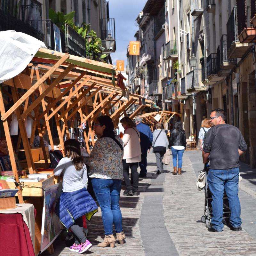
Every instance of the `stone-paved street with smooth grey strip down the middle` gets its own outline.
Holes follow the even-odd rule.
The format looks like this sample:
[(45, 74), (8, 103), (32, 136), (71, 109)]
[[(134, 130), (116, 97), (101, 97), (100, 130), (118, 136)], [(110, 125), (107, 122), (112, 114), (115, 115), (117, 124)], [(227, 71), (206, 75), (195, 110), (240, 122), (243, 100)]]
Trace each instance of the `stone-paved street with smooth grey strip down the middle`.
[[(197, 174), (202, 168), (201, 151), (185, 151), (183, 175), (171, 174), (172, 162), (164, 166), (163, 174), (156, 175), (155, 155), (149, 153), (148, 176), (140, 179), (140, 195), (120, 198), (126, 243), (116, 244), (114, 249), (97, 247), (104, 236), (99, 211), (87, 223), (88, 239), (94, 245), (87, 253), (95, 256), (256, 255), (256, 180), (252, 179), (252, 170), (241, 164), (243, 180), (239, 197), (243, 230), (234, 232), (224, 226), (223, 232), (210, 233), (201, 222), (204, 191), (196, 189)], [(76, 255), (65, 247), (61, 236), (54, 242), (54, 251), (56, 256)]]

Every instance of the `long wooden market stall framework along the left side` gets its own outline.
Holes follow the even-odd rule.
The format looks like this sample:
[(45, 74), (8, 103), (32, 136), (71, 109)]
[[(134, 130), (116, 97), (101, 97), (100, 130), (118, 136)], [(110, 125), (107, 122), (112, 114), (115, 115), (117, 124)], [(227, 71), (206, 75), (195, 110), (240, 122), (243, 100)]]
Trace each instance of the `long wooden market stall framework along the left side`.
[[(29, 174), (40, 172), (40, 168), (49, 166), (48, 148), (44, 146), (43, 131), (47, 130), (53, 149), (56, 147), (56, 140), (52, 134), (51, 124), (54, 123), (58, 134), (57, 145), (63, 149), (64, 138), (70, 138), (69, 129), (77, 125), (78, 121), (88, 124), (88, 129), (84, 130), (84, 139), (89, 152), (89, 143), (94, 145), (92, 122), (100, 113), (109, 115), (117, 126), (120, 116), (126, 115), (126, 111), (134, 104), (139, 107), (131, 117), (135, 117), (145, 106), (152, 105), (149, 100), (142, 104), (141, 96), (130, 93), (124, 86), (123, 79), (116, 66), (40, 48), (20, 74), (0, 85), (1, 121), (15, 177), (15, 183), (5, 180), (1, 182), (4, 188), (19, 189), (19, 203), (24, 203), (23, 196), (28, 196), (26, 202), (34, 204), (37, 209), (36, 253), (40, 251), (40, 216), (43, 214), (44, 189), (57, 181), (51, 175), (35, 183), (25, 182), (23, 187), (19, 180), (15, 152), (24, 152), (26, 160), (22, 165), (23, 168), (28, 168)], [(19, 126), (15, 148), (10, 135), (10, 123), (14, 113)], [(27, 118), (32, 119), (30, 139), (25, 125)], [(36, 130), (40, 137), (40, 161), (35, 161), (38, 159), (34, 156), (33, 140)], [(21, 142), (23, 149), (20, 148)]]

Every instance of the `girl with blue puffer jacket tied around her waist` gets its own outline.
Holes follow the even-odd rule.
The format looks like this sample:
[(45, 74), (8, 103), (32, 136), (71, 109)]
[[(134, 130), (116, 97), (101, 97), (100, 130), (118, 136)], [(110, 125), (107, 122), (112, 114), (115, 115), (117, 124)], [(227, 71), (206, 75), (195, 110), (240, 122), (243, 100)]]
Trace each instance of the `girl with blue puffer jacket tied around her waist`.
[(83, 232), (82, 216), (98, 211), (98, 206), (87, 191), (87, 170), (80, 152), (80, 143), (70, 139), (64, 142), (65, 157), (54, 169), (55, 176), (63, 175), (62, 193), (56, 205), (56, 213), (62, 224), (70, 228), (75, 243), (72, 252), (83, 253), (92, 247)]

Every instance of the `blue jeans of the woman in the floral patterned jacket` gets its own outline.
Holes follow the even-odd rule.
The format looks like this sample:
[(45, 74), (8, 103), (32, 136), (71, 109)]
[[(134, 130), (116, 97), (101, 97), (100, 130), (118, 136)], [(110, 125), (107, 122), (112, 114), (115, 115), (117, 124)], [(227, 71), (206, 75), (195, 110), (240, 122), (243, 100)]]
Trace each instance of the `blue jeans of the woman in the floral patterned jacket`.
[(119, 207), (119, 197), (122, 180), (92, 179), (92, 188), (98, 203), (105, 235), (113, 234), (113, 223), (116, 233), (123, 231), (122, 213)]

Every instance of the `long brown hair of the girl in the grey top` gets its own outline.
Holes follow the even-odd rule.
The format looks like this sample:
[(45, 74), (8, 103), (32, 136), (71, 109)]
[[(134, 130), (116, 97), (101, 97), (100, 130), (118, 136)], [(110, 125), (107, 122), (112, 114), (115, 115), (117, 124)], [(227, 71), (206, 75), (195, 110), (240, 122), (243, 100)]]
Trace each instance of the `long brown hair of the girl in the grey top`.
[(83, 168), (84, 161), (81, 156), (80, 143), (75, 139), (69, 139), (64, 142), (65, 156), (72, 159), (75, 165), (76, 171), (80, 171)]

